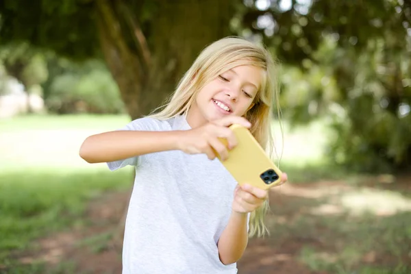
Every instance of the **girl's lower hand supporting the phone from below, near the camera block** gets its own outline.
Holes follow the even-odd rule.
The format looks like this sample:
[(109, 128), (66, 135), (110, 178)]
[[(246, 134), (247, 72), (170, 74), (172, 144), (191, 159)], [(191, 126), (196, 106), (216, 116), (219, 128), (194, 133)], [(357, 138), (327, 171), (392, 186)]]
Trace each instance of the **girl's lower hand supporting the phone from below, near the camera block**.
[[(277, 185), (282, 185), (287, 181), (286, 173), (282, 174), (282, 180)], [(256, 188), (249, 184), (237, 185), (234, 190), (234, 201), (232, 210), (238, 213), (248, 213), (260, 208), (262, 203), (269, 197), (269, 190)]]

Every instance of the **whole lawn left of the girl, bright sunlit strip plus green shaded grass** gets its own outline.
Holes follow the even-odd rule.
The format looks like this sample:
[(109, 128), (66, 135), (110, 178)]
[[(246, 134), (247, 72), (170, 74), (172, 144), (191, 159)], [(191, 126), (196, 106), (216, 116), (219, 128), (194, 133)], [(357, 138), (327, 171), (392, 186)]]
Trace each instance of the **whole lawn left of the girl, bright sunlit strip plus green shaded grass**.
[(78, 155), (86, 136), (125, 123), (124, 116), (84, 115), (0, 121), (0, 265), (35, 238), (82, 225), (90, 199), (131, 186), (131, 168), (112, 173)]

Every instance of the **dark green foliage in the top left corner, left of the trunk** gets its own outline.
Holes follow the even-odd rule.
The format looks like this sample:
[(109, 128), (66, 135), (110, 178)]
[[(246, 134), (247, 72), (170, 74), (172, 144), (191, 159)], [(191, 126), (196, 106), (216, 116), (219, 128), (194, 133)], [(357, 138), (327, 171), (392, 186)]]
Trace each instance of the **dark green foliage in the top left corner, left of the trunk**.
[(29, 41), (72, 58), (98, 55), (94, 5), (79, 0), (1, 1), (0, 42)]

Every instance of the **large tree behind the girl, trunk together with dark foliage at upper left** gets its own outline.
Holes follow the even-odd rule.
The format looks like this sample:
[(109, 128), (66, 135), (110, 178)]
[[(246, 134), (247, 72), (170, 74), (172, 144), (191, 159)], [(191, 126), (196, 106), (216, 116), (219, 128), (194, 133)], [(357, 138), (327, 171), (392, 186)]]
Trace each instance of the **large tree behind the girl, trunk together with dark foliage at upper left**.
[(219, 0), (5, 0), (0, 42), (102, 58), (136, 119), (170, 95), (203, 47), (229, 34), (234, 9)]

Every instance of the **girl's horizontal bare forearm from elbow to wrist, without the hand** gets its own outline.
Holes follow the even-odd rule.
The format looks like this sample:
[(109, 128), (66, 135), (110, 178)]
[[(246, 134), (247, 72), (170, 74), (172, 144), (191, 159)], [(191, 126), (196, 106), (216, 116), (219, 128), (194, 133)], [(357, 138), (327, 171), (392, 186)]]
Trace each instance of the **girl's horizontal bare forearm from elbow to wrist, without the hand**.
[(178, 148), (181, 132), (145, 132), (119, 130), (89, 136), (79, 155), (89, 163), (114, 162), (138, 155)]

